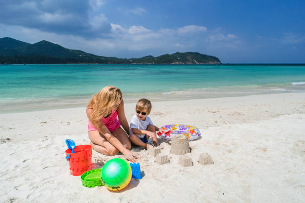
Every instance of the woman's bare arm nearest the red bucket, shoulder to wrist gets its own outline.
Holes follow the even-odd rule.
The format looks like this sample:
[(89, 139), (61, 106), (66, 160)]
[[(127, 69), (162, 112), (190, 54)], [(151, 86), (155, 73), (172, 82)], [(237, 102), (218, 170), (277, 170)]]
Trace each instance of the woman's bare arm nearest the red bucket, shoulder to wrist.
[[(91, 115), (92, 115), (92, 108), (87, 108), (86, 112), (87, 112), (87, 116), (91, 121)], [(92, 121), (91, 121), (92, 122)], [(126, 149), (124, 147), (124, 145), (120, 142), (120, 140), (118, 140), (118, 138), (116, 138), (115, 136), (113, 136), (111, 134), (111, 132), (108, 130), (108, 128), (104, 125), (104, 123), (102, 121), (99, 122), (92, 122), (93, 126), (100, 132), (102, 133), (105, 138), (115, 147), (117, 148), (120, 152), (122, 152), (124, 154), (124, 152), (128, 149)], [(128, 150), (129, 151), (129, 150)]]

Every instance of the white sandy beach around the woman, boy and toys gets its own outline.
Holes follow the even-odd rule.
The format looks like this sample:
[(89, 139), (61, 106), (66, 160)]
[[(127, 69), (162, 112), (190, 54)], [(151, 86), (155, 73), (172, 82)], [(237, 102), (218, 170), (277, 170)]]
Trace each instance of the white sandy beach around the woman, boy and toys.
[[(120, 192), (85, 188), (65, 160), (65, 139), (88, 144), (85, 107), (0, 114), (0, 202), (253, 202), (305, 200), (305, 93), (256, 95), (152, 103), (155, 125), (189, 124), (202, 138), (190, 142), (194, 166), (182, 168), (179, 155), (162, 154), (158, 165), (140, 156), (145, 176)], [(135, 104), (126, 104), (128, 121)], [(200, 153), (213, 165), (200, 165)], [(93, 151), (95, 168), (108, 157)]]

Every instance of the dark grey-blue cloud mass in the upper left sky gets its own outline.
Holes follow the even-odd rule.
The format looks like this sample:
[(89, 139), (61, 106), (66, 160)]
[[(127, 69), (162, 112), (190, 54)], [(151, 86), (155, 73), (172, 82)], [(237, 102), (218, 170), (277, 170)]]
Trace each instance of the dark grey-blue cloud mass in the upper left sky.
[(93, 14), (95, 13), (93, 7), (101, 6), (103, 2), (101, 0), (6, 1), (1, 3), (0, 19), (5, 19), (2, 24), (7, 26), (19, 25), (59, 35), (105, 37), (111, 32), (110, 23), (105, 15)]

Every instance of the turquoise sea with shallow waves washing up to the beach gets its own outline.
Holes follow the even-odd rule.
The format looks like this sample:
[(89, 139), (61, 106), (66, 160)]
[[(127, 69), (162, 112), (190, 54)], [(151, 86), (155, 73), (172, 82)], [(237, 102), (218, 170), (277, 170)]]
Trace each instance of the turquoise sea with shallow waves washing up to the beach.
[(85, 106), (107, 85), (125, 102), (305, 92), (305, 64), (0, 65), (0, 113)]

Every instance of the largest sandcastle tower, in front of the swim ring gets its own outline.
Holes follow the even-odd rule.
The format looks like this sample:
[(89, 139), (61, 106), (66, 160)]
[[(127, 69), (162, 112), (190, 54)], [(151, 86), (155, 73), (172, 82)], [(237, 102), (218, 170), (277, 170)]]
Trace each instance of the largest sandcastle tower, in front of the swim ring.
[(190, 153), (188, 139), (184, 135), (175, 135), (171, 139), (171, 154), (187, 154)]

